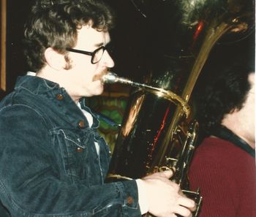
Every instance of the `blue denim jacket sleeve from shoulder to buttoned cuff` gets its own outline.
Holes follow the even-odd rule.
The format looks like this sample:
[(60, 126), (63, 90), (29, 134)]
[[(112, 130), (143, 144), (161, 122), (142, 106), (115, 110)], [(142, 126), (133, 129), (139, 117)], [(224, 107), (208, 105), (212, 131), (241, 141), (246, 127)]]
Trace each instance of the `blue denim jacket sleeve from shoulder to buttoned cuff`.
[(61, 179), (37, 111), (1, 109), (0, 132), (0, 199), (12, 216), (140, 216), (135, 180), (87, 187)]

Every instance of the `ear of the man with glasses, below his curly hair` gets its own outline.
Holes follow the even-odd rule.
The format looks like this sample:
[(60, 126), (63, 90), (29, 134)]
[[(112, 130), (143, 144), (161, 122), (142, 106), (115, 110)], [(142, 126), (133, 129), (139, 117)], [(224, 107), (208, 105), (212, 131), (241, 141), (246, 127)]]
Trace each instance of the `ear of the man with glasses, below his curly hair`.
[(52, 47), (45, 50), (45, 60), (50, 67), (56, 70), (64, 69), (67, 64), (64, 55), (53, 50)]

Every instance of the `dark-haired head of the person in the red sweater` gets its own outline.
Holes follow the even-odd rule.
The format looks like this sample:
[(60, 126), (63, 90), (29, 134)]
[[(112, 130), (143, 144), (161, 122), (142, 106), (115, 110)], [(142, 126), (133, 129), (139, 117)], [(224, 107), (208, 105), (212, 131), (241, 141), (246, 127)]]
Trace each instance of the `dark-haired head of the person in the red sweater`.
[(206, 134), (223, 125), (246, 142), (255, 141), (254, 70), (240, 62), (216, 66), (209, 72), (197, 97), (197, 120)]

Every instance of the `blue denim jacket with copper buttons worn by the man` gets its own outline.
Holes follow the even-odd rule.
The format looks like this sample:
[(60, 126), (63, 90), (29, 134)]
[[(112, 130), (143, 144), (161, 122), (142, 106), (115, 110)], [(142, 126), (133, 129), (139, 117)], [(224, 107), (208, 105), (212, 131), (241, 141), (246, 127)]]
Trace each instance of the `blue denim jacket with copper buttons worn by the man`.
[(98, 126), (58, 84), (19, 77), (0, 103), (1, 216), (140, 216), (135, 180), (104, 183), (110, 150)]

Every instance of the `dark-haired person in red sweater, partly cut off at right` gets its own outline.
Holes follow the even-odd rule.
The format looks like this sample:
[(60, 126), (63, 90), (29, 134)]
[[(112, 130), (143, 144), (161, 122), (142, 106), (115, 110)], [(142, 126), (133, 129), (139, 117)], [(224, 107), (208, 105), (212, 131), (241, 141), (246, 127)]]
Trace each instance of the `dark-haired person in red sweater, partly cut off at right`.
[(254, 70), (227, 61), (200, 91), (198, 121), (207, 136), (189, 169), (190, 186), (203, 196), (200, 217), (256, 215)]

